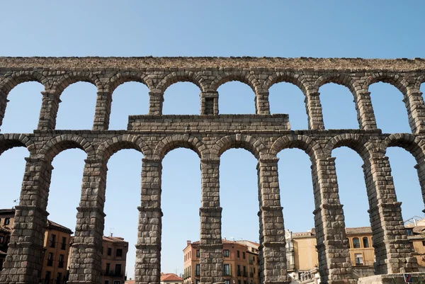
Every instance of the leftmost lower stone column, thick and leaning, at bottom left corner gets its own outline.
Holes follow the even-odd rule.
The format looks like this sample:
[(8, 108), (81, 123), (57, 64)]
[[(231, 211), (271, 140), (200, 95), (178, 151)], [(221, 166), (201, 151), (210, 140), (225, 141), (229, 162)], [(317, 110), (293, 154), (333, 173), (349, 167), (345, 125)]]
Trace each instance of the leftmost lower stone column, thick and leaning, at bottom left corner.
[(35, 284), (40, 280), (52, 169), (50, 161), (26, 158), (19, 206), (15, 208), (13, 232), (0, 276), (1, 284)]

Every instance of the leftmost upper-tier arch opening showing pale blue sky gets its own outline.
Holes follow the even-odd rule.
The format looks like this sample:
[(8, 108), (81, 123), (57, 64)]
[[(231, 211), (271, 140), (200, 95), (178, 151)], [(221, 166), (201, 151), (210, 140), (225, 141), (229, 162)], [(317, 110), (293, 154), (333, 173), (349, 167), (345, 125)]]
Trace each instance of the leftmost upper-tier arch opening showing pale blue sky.
[(7, 96), (1, 132), (31, 133), (37, 129), (44, 86), (37, 81), (18, 84)]

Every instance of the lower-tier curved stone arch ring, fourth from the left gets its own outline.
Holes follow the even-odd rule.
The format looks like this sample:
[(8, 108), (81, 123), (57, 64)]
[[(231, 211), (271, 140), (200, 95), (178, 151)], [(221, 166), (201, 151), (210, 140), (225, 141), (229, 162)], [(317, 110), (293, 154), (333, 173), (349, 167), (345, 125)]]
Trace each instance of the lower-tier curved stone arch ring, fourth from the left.
[(208, 149), (198, 137), (188, 134), (177, 134), (165, 137), (158, 142), (154, 149), (153, 156), (156, 159), (164, 159), (165, 155), (176, 148), (188, 148), (198, 154), (200, 159), (203, 159), (208, 154)]

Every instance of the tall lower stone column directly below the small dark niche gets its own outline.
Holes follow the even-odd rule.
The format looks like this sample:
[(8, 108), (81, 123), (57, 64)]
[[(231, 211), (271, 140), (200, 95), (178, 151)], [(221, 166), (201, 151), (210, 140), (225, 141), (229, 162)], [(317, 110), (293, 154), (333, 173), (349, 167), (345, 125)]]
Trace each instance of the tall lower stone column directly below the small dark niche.
[(220, 159), (200, 161), (202, 200), (200, 215), (200, 283), (223, 283), (220, 207)]

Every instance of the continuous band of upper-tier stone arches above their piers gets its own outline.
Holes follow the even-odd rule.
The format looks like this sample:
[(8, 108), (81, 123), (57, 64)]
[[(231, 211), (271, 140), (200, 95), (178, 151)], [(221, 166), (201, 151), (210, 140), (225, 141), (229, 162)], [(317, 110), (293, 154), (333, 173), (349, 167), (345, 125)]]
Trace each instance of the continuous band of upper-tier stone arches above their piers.
[[(46, 90), (57, 94), (62, 93), (69, 85), (79, 81), (94, 84), (98, 91), (113, 92), (118, 86), (129, 81), (136, 81), (145, 84), (149, 91), (164, 92), (176, 82), (189, 81), (199, 87), (200, 91), (217, 91), (217, 89), (229, 81), (240, 81), (247, 84), (254, 93), (267, 91), (273, 84), (287, 82), (297, 86), (303, 93), (309, 91), (318, 91), (321, 86), (327, 83), (334, 83), (346, 86), (351, 92), (367, 91), (368, 86), (377, 82), (392, 84), (403, 94), (407, 94), (409, 89), (419, 90), (422, 83), (425, 82), (425, 74), (415, 74), (401, 76), (390, 72), (375, 72), (371, 74), (344, 74), (344, 73), (326, 73), (321, 76), (314, 74), (303, 74), (296, 72), (273, 72), (272, 74), (261, 74), (249, 72), (246, 70), (222, 72), (212, 74), (212, 72), (171, 72), (170, 74), (154, 75), (143, 72), (121, 72), (108, 74), (103, 77), (96, 72), (69, 72), (62, 76), (53, 74), (45, 76), (40, 72), (26, 71), (16, 72), (4, 76), (0, 80), (0, 92), (8, 93), (17, 86), (26, 81), (38, 81), (45, 86)], [(158, 77), (157, 77), (158, 76)], [(261, 79), (259, 79), (261, 78)]]

